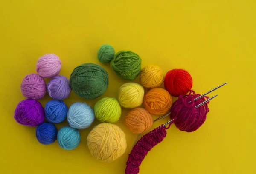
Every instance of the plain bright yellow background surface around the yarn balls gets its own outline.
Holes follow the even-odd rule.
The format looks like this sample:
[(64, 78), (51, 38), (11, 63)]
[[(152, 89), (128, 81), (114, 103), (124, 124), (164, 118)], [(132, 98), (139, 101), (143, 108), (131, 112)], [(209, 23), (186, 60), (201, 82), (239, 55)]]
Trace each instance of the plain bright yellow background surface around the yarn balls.
[[(82, 63), (99, 63), (98, 48), (111, 44), (116, 52), (131, 50), (142, 66), (167, 71), (184, 68), (193, 89), (203, 94), (229, 82), (214, 94), (204, 125), (193, 133), (172, 125), (165, 140), (143, 161), (140, 174), (255, 174), (256, 140), (256, 1), (255, 0), (2, 0), (0, 2), (0, 173), (122, 174), (136, 134), (125, 131), (128, 147), (112, 163), (94, 159), (87, 148), (87, 130), (72, 151), (41, 145), (35, 127), (15, 122), (17, 103), (25, 99), (20, 83), (35, 73), (39, 57), (57, 54), (61, 74), (70, 77)], [(102, 97), (117, 97), (125, 82), (110, 65)], [(135, 80), (139, 82), (139, 79)], [(50, 97), (40, 102), (45, 105)], [(65, 100), (94, 106), (73, 92)], [(154, 117), (155, 119), (156, 117)], [(168, 121), (154, 123), (154, 128)], [(67, 125), (58, 124), (57, 127)]]

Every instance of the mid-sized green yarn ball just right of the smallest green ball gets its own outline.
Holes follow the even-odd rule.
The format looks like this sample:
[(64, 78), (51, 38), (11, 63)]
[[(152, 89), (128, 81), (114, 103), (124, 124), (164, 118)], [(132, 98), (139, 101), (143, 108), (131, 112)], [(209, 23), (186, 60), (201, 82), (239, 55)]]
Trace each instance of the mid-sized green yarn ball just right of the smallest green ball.
[(140, 74), (141, 58), (131, 51), (119, 51), (110, 65), (119, 77), (134, 80)]

